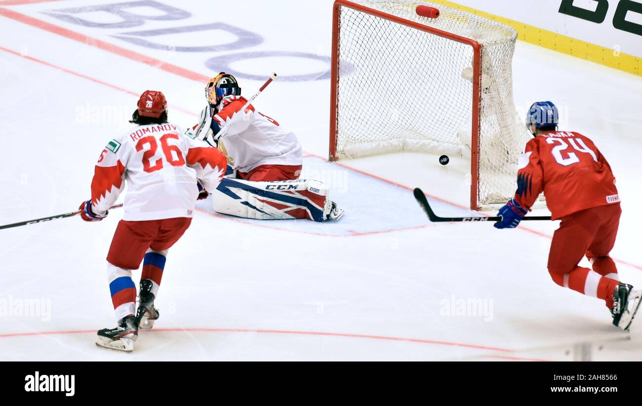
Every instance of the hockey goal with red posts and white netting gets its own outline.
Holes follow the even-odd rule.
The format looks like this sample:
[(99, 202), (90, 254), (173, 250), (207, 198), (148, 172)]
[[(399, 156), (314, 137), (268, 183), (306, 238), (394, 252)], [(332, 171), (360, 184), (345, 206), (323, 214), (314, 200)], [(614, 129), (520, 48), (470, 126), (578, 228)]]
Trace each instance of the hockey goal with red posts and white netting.
[(532, 137), (513, 101), (516, 39), (509, 26), (425, 1), (337, 0), (330, 159), (470, 157), (471, 208), (505, 203)]

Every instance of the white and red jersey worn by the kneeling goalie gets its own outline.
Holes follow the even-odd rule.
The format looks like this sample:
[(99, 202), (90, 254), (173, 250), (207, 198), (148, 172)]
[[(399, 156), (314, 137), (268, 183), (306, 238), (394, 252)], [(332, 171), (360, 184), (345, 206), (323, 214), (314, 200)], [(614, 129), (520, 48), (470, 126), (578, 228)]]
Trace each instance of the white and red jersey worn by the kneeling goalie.
[(252, 105), (241, 112), (245, 103), (247, 99), (241, 96), (227, 96), (214, 115), (211, 106), (205, 107), (200, 123), (190, 134), (196, 132), (198, 139), (207, 139), (213, 134), (230, 166), (240, 172), (247, 173), (261, 165), (303, 164), (303, 150), (297, 136), (274, 119), (255, 111)]

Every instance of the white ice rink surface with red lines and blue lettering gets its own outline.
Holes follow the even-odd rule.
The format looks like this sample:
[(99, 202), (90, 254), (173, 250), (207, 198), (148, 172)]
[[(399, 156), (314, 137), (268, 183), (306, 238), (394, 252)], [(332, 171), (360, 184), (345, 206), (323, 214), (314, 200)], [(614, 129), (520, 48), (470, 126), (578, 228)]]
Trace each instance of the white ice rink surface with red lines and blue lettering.
[[(115, 322), (105, 256), (118, 209), (94, 224), (1, 230), (0, 360), (642, 360), (642, 319), (623, 333), (602, 301), (551, 281), (558, 222), (500, 231), (428, 221), (417, 186), (438, 213), (471, 213), (456, 157), (447, 166), (428, 154), (327, 161), (331, 0), (225, 10), (160, 1), (182, 10), (175, 20), (142, 1), (130, 12), (160, 17), (140, 26), (68, 11), (120, 2), (0, 1), (0, 224), (76, 210), (139, 94), (162, 91), (169, 120), (188, 127), (205, 106), (205, 81), (226, 69), (244, 95), (279, 73), (254, 105), (294, 130), (304, 177), (327, 182), (346, 214), (244, 220), (199, 202), (169, 251), (161, 317), (133, 353), (94, 345), (96, 330)], [(213, 23), (223, 29), (176, 29)], [(561, 128), (591, 137), (609, 160), (623, 208), (612, 257), (623, 281), (642, 286), (642, 78), (519, 41), (513, 69), (520, 116), (551, 100)], [(476, 311), (460, 315), (462, 303)]]

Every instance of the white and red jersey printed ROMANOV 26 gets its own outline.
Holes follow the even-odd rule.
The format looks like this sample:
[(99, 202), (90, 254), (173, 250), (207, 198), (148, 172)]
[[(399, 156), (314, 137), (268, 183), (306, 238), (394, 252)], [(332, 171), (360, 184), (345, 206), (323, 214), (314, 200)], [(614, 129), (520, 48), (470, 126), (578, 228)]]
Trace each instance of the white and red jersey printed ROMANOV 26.
[(186, 136), (171, 123), (141, 125), (109, 141), (91, 182), (92, 211), (104, 215), (127, 181), (123, 220), (191, 217), (196, 179), (214, 191), (226, 159), (216, 148)]

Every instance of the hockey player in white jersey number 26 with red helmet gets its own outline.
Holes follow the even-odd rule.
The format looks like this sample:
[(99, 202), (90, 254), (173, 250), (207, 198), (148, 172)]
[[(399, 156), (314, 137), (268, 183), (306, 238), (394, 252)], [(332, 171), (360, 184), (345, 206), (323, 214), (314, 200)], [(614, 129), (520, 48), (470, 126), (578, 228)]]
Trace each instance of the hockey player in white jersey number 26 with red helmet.
[[(137, 127), (109, 141), (96, 164), (91, 200), (80, 205), (85, 221), (100, 221), (127, 182), (125, 213), (107, 254), (107, 273), (118, 326), (98, 331), (96, 344), (132, 351), (138, 329), (152, 328), (168, 249), (185, 233), (200, 190), (213, 191), (226, 160), (216, 148), (184, 135), (167, 121), (167, 101), (145, 91), (132, 123)], [(197, 184), (196, 179), (200, 179)], [(139, 306), (132, 270), (143, 262)]]

